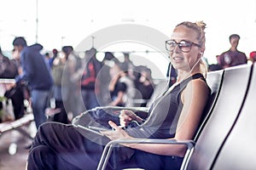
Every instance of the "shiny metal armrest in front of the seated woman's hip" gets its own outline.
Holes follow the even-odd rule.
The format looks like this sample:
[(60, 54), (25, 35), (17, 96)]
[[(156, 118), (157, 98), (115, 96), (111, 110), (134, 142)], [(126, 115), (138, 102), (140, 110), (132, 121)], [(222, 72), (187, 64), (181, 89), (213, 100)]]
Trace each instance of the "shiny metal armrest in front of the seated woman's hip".
[(113, 147), (117, 144), (184, 144), (187, 146), (186, 154), (183, 158), (181, 169), (187, 166), (189, 155), (194, 149), (195, 142), (193, 140), (176, 140), (176, 139), (117, 139), (106, 144), (101, 160), (99, 161), (97, 170), (104, 170), (107, 167), (109, 157), (111, 156)]

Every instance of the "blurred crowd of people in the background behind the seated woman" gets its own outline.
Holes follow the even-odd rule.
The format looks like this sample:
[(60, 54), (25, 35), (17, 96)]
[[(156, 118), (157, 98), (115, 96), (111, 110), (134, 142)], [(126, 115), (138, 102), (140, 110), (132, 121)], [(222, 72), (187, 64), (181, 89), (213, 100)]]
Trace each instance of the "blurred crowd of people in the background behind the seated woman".
[[(247, 58), (237, 49), (239, 35), (232, 34), (229, 40), (230, 49), (216, 56), (216, 64), (209, 65), (209, 71), (256, 60), (256, 51)], [(99, 61), (96, 48), (85, 50), (81, 57), (72, 46), (41, 54), (43, 46), (27, 46), (24, 37), (15, 37), (13, 45), (12, 59), (0, 51), (0, 78), (15, 78), (15, 86), (7, 90), (5, 97), (12, 99), (15, 119), (32, 105), (37, 127), (49, 120), (45, 115), (48, 107), (53, 109), (51, 121), (70, 123), (72, 117), (96, 106), (146, 106), (154, 92), (151, 70), (134, 65), (128, 53), (124, 53), (123, 62), (111, 52), (105, 52)], [(177, 75), (170, 76), (172, 86)]]

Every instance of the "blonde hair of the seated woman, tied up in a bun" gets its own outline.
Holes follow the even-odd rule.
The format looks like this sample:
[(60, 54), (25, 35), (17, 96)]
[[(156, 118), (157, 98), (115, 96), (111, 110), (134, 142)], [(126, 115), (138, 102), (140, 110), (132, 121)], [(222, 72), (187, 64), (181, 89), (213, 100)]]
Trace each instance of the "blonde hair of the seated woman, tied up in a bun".
[[(189, 22), (189, 21), (184, 21), (177, 26), (186, 26), (192, 30), (194, 30), (197, 33), (197, 40), (199, 42), (199, 45), (201, 45), (201, 48), (205, 50), (206, 48), (206, 32), (205, 29), (207, 27), (207, 24), (204, 23), (202, 20), (201, 21), (196, 21), (196, 22)], [(176, 27), (177, 27), (176, 26)], [(207, 65), (206, 63), (201, 59), (200, 60), (200, 71), (203, 74), (204, 77), (207, 77)]]

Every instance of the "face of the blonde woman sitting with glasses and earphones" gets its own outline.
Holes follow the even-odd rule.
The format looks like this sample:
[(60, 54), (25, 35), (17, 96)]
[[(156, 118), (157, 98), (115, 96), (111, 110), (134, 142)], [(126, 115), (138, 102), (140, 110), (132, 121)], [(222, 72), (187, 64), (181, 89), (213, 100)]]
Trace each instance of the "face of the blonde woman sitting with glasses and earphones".
[[(171, 40), (177, 43), (186, 41), (198, 44), (196, 37), (196, 31), (186, 26), (177, 26), (172, 32)], [(170, 59), (177, 70), (191, 71), (192, 67), (197, 64), (196, 62), (201, 59), (201, 48), (193, 44), (191, 50), (185, 53), (176, 45), (173, 51), (170, 52)]]

